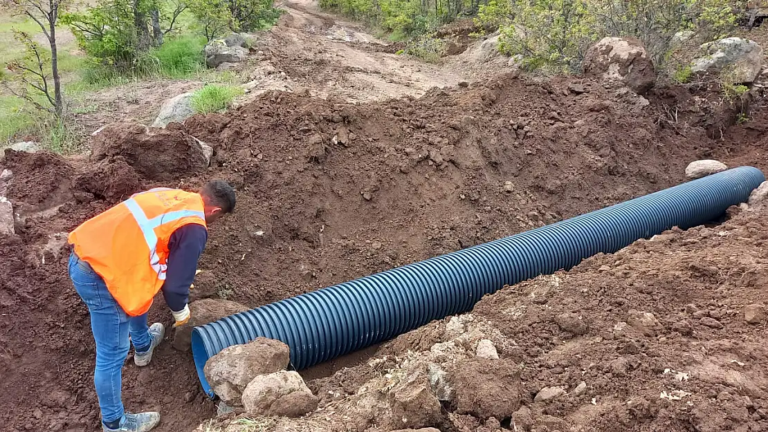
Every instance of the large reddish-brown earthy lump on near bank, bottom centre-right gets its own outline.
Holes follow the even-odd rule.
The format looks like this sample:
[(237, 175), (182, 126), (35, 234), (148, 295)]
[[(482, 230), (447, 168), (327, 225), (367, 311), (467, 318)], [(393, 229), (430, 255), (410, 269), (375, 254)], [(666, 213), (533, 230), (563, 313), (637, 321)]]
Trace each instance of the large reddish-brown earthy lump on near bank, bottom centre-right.
[(521, 381), (517, 365), (505, 360), (472, 358), (449, 370), (456, 414), (511, 417), (520, 407)]

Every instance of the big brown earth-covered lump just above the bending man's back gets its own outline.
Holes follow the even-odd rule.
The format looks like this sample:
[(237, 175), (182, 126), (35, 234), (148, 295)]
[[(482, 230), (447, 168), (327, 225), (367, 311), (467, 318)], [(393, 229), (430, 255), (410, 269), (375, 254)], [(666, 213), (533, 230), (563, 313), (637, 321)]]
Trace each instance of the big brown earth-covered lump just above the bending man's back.
[(177, 124), (151, 130), (141, 124), (109, 124), (91, 140), (91, 160), (118, 156), (147, 180), (194, 175), (206, 170), (210, 159), (202, 143)]

